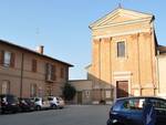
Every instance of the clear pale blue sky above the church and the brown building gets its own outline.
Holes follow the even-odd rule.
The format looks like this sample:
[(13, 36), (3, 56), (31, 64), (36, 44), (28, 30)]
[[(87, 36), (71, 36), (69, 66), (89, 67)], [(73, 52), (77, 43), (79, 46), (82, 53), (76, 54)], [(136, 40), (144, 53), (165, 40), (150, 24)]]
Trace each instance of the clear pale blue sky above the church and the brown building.
[(86, 79), (92, 60), (89, 25), (122, 4), (155, 15), (159, 44), (166, 45), (166, 0), (0, 0), (0, 39), (74, 65), (70, 80)]

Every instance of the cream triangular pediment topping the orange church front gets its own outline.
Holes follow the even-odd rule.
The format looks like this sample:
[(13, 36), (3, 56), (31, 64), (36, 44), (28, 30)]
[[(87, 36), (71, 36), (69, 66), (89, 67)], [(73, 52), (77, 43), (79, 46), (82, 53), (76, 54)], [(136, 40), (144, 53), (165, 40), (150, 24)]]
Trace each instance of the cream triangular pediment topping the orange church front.
[(105, 27), (111, 24), (117, 24), (123, 22), (133, 22), (137, 20), (151, 20), (153, 14), (142, 13), (137, 11), (126, 10), (118, 8), (113, 12), (106, 14), (100, 20), (95, 21), (90, 25), (90, 28)]

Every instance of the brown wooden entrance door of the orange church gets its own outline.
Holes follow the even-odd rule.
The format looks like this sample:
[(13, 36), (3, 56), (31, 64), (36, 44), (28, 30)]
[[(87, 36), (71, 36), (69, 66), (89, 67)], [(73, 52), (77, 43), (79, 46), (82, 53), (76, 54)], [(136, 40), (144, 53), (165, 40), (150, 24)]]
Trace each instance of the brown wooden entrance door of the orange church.
[(117, 81), (116, 82), (116, 97), (127, 97), (128, 96), (128, 81)]

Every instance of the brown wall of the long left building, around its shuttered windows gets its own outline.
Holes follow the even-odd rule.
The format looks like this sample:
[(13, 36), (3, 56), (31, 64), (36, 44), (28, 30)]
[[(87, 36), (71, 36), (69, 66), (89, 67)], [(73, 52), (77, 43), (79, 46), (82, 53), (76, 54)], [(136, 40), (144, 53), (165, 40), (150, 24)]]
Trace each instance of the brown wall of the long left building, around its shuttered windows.
[[(17, 96), (30, 97), (30, 85), (37, 84), (38, 96), (44, 96), (46, 88), (52, 90), (53, 95), (62, 95), (62, 88), (69, 80), (69, 66), (33, 54), (31, 52), (0, 43), (0, 51), (9, 51), (15, 54), (14, 66), (4, 67), (0, 65), (0, 93), (2, 81), (10, 81), (10, 93)], [(21, 63), (23, 53), (22, 91), (21, 91)], [(32, 60), (38, 62), (37, 72), (32, 72)], [(45, 64), (51, 63), (56, 66), (56, 81), (50, 83), (45, 81)], [(64, 77), (61, 77), (60, 69), (64, 69)], [(49, 87), (48, 87), (49, 86)]]

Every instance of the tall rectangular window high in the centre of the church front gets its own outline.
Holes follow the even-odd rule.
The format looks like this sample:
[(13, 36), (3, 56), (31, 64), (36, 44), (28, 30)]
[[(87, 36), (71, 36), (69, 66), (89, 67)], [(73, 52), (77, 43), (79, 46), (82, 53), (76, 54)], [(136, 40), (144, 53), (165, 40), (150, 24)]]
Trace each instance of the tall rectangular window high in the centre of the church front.
[(125, 42), (117, 42), (117, 58), (125, 58)]

